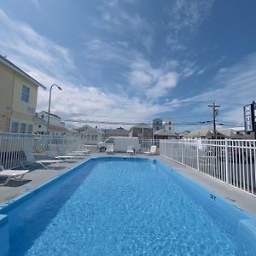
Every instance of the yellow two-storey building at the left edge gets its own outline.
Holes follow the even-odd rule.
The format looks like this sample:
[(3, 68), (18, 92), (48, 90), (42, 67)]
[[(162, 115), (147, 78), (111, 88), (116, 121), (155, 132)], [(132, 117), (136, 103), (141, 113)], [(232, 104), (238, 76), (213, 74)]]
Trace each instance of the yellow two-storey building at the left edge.
[(43, 84), (0, 55), (0, 131), (32, 133)]

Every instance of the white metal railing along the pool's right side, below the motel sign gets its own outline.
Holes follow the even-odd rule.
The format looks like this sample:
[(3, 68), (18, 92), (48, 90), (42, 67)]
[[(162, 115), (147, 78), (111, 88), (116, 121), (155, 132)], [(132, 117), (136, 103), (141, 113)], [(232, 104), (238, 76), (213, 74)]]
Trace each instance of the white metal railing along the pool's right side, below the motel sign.
[(160, 140), (160, 154), (256, 195), (256, 140)]

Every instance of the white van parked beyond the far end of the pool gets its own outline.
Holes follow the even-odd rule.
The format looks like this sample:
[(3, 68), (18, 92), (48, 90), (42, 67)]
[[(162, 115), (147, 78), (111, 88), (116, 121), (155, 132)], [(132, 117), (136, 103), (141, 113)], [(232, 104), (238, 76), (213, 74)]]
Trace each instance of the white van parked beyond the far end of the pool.
[(108, 137), (105, 142), (98, 143), (98, 149), (100, 152), (104, 152), (108, 144), (113, 144), (113, 151), (126, 152), (130, 146), (138, 152), (141, 149), (138, 137)]

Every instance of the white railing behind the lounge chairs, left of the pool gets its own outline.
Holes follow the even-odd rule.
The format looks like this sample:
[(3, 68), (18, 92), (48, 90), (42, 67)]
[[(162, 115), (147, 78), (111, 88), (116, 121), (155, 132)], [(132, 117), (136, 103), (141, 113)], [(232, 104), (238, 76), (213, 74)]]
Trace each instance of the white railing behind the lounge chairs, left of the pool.
[[(33, 135), (24, 133), (0, 133), (0, 165), (6, 169), (21, 166), (26, 162), (22, 148), (32, 148), (34, 154), (40, 157), (47, 156), (47, 151), (53, 145), (60, 145), (70, 151), (69, 148), (80, 148), (83, 141), (79, 137), (55, 137), (45, 135)], [(67, 147), (69, 146), (69, 147)]]

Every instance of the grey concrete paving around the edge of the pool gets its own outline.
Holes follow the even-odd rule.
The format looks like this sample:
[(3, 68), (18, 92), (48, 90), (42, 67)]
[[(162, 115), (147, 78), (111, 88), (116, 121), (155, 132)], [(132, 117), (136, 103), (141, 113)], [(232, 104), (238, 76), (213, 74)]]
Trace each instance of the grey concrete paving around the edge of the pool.
[[(93, 153), (90, 156), (84, 156), (83, 159), (73, 160), (72, 162), (63, 162), (57, 166), (49, 166), (49, 169), (43, 169), (39, 166), (32, 166), (31, 172), (28, 172), (21, 181), (11, 181), (6, 186), (0, 186), (0, 204), (5, 201), (9, 201), (18, 195), (25, 193), (26, 191), (35, 188), (39, 184), (47, 182), (49, 179), (60, 175), (62, 172), (67, 172), (72, 166), (78, 165), (80, 162), (89, 159), (93, 156), (103, 156), (102, 153)], [(125, 154), (114, 154), (113, 156), (124, 156)], [(126, 156), (126, 155), (125, 155)], [(143, 154), (138, 156), (143, 156)], [(241, 208), (245, 212), (249, 212), (256, 217), (256, 197), (249, 195), (239, 189), (235, 189), (226, 183), (222, 183), (217, 179), (208, 177), (207, 175), (196, 172), (188, 167), (177, 164), (172, 160), (158, 155), (151, 156), (163, 161), (166, 165), (171, 166), (172, 169), (181, 172), (184, 176), (193, 179), (197, 183), (201, 183), (206, 189), (214, 191), (216, 195), (221, 196), (225, 200), (229, 201), (232, 205)]]

